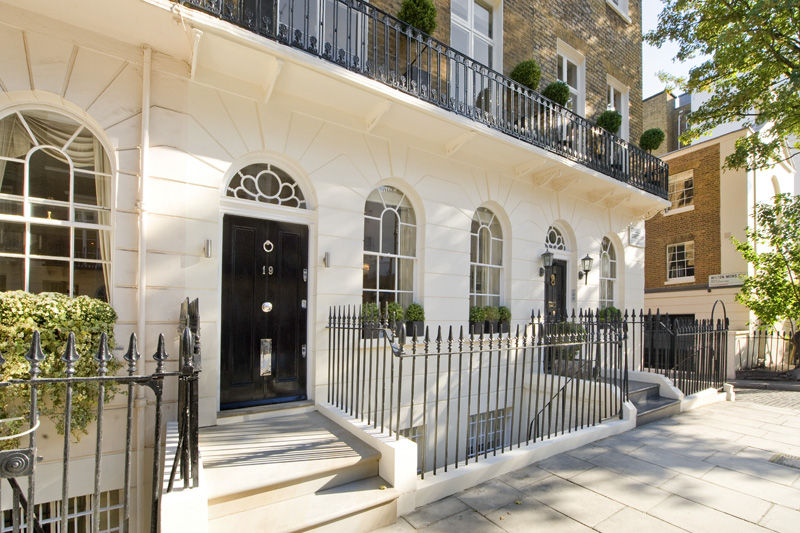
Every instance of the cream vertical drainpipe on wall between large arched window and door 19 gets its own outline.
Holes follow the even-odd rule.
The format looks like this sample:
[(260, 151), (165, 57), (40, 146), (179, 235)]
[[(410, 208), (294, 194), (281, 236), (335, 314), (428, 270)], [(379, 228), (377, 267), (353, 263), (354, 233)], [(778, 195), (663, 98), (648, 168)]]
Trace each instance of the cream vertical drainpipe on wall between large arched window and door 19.
[[(137, 238), (137, 250), (139, 254), (139, 268), (137, 279), (137, 310), (136, 334), (139, 336), (139, 346), (142, 350), (147, 349), (147, 331), (145, 318), (147, 316), (147, 233), (145, 224), (145, 183), (148, 176), (148, 161), (150, 158), (150, 72), (151, 72), (152, 50), (148, 45), (142, 48), (142, 122), (141, 140), (139, 145), (139, 190), (136, 205), (139, 211), (139, 234)], [(143, 357), (139, 371), (145, 370), (147, 363)], [(144, 461), (145, 447), (145, 409), (147, 400), (144, 396), (144, 387), (137, 387), (136, 395), (136, 450), (138, 451), (138, 475), (136, 476), (136, 500), (139, 512), (137, 519), (139, 524), (146, 524), (144, 512), (149, 506), (146, 504), (149, 498), (145, 497), (144, 483), (147, 480), (147, 469)], [(155, 490), (155, 487), (153, 487)]]

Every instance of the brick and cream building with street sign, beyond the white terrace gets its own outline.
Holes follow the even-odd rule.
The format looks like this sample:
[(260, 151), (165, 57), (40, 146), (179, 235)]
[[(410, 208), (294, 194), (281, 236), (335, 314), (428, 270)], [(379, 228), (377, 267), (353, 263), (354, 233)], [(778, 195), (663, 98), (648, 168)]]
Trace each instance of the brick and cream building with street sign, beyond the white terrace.
[[(644, 128), (677, 133), (678, 110), (685, 114), (699, 105), (688, 94), (680, 99), (665, 92), (645, 100)], [(740, 125), (720, 126), (710, 138), (681, 148), (670, 133), (664, 143), (670, 151), (660, 157), (669, 163), (671, 205), (645, 223), (645, 307), (708, 318), (714, 302), (722, 300), (731, 327), (745, 329), (751, 317), (735, 295), (748, 264), (732, 238), (745, 239), (755, 203), (797, 192), (795, 170), (788, 162), (756, 172), (724, 169), (736, 140), (751, 133)]]

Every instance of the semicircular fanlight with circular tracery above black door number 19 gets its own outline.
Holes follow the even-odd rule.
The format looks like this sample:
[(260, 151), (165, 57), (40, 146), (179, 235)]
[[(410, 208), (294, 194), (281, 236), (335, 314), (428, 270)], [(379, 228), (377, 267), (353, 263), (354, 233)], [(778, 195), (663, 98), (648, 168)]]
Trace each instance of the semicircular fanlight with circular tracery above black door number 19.
[(297, 181), (270, 163), (253, 163), (236, 171), (225, 194), (231, 198), (308, 209)]

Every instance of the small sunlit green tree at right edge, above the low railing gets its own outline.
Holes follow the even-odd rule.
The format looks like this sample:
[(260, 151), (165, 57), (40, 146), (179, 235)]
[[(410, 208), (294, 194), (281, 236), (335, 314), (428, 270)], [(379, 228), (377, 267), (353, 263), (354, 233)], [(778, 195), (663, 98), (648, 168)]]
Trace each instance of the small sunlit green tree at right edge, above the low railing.
[(752, 265), (737, 301), (755, 313), (764, 326), (800, 319), (800, 196), (779, 194), (772, 204), (756, 206), (755, 224), (747, 240), (733, 239)]

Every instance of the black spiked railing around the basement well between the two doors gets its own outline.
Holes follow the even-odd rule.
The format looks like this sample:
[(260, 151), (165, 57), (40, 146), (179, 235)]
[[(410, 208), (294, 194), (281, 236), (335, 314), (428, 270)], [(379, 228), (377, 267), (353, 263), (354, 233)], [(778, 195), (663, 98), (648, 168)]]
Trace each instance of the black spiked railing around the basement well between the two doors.
[(353, 307), (328, 326), (328, 403), (414, 440), (423, 477), (621, 417), (627, 399), (625, 328), (594, 315), (407, 337)]

